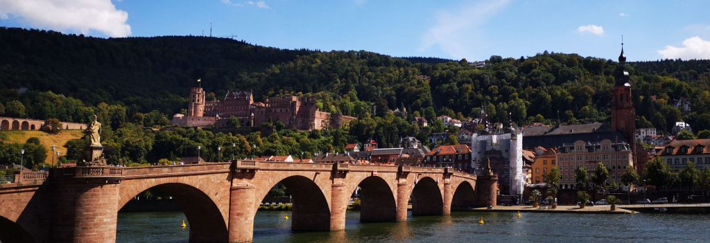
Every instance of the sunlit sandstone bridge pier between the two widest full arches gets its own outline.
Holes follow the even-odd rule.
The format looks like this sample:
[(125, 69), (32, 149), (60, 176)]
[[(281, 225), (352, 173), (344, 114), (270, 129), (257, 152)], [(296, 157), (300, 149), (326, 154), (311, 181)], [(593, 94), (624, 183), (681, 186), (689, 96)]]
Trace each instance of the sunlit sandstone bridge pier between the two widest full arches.
[(254, 193), (256, 187), (249, 183), (231, 186), (229, 199), (229, 243), (251, 242), (253, 239)]

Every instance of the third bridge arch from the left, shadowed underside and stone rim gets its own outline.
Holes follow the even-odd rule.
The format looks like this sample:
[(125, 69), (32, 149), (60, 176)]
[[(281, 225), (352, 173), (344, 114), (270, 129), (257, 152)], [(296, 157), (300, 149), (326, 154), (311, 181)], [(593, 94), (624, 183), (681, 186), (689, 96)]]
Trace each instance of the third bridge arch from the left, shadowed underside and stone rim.
[[(274, 183), (267, 183), (263, 187), (257, 187), (257, 207), (266, 198), (268, 191), (281, 183), (286, 187), (286, 192), (293, 199), (290, 217), (292, 230), (330, 230), (330, 206), (326, 197), (329, 193), (322, 190), (315, 177), (310, 179), (302, 175), (291, 175), (279, 181), (268, 181), (274, 181)], [(329, 183), (329, 180), (324, 181)]]

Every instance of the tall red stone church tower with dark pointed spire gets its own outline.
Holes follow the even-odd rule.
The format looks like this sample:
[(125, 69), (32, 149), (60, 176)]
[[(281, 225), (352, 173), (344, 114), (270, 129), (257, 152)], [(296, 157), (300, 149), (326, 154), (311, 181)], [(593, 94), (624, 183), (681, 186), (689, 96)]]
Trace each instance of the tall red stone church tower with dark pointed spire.
[(614, 70), (616, 84), (613, 88), (613, 103), (611, 104), (611, 129), (614, 132), (621, 132), (631, 147), (635, 145), (635, 118), (636, 114), (631, 103), (631, 84), (629, 74), (626, 72), (626, 56), (623, 54), (623, 43), (621, 43), (621, 55), (619, 55), (619, 66)]

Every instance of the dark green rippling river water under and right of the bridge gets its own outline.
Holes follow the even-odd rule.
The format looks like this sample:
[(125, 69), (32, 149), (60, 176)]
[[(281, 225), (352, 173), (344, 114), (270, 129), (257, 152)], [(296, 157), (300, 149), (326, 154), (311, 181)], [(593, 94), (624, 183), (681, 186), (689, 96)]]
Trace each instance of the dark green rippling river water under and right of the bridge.
[[(285, 213), (258, 212), (254, 242), (710, 242), (710, 215), (454, 212), (361, 223), (349, 211), (344, 231), (291, 232)], [(116, 242), (187, 242), (183, 219), (180, 212), (119, 213)]]

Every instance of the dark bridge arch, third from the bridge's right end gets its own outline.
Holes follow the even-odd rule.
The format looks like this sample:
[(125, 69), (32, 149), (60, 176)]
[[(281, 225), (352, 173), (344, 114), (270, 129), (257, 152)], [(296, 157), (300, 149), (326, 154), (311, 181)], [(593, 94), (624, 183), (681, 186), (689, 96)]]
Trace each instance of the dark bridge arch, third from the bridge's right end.
[[(380, 176), (368, 176), (357, 186), (360, 188), (360, 221), (382, 222), (397, 220), (397, 205), (393, 188)], [(348, 192), (354, 192), (351, 190)], [(349, 198), (349, 197), (348, 197)]]

